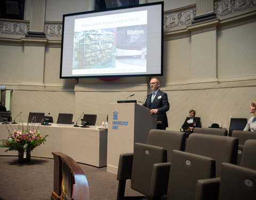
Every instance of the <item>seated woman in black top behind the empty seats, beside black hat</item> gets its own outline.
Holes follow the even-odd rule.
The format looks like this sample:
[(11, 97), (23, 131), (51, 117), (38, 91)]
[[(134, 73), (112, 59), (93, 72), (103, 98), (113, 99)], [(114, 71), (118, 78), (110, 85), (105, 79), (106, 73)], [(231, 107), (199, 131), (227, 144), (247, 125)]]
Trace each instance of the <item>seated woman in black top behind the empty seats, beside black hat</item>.
[(187, 133), (193, 133), (193, 130), (195, 127), (202, 127), (200, 118), (195, 117), (196, 111), (195, 110), (190, 110), (189, 111), (189, 117), (186, 118), (184, 124), (182, 125), (183, 131)]

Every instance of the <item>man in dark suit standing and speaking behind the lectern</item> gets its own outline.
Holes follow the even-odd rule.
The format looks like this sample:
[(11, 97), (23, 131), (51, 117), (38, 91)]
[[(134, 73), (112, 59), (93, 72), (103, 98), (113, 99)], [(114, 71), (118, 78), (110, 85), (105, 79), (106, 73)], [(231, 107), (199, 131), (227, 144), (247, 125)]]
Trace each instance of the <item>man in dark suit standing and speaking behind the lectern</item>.
[(170, 108), (167, 94), (159, 90), (160, 82), (157, 78), (151, 78), (149, 85), (152, 93), (147, 96), (143, 106), (151, 109), (151, 115), (157, 114), (157, 121), (161, 122), (157, 124), (157, 129), (165, 130), (168, 127), (166, 111)]

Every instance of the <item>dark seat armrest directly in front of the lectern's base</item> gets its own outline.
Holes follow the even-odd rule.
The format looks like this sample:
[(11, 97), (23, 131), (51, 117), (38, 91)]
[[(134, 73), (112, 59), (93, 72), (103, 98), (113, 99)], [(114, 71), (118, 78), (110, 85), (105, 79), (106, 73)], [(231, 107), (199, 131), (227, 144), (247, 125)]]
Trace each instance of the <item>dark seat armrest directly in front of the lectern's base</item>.
[(117, 170), (117, 180), (121, 181), (131, 179), (132, 161), (133, 153), (120, 154)]

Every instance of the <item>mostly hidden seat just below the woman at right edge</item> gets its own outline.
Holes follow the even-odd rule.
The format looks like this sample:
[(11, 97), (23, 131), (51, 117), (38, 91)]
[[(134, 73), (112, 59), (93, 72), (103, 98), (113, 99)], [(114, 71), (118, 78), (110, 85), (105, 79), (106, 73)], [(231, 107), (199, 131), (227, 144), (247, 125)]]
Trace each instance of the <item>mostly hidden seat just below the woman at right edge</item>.
[(253, 131), (237, 131), (237, 130), (234, 130), (232, 132), (232, 135), (233, 135), (233, 137), (239, 139), (237, 164), (240, 165), (243, 150), (244, 150), (244, 143), (245, 143), (246, 140), (256, 139), (256, 133), (253, 132)]

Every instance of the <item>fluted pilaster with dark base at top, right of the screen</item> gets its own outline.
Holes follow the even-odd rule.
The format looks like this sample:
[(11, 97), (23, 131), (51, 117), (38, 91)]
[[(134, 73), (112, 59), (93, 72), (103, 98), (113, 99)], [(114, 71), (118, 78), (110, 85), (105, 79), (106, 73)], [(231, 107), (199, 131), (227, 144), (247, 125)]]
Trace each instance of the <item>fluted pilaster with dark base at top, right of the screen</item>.
[(196, 0), (196, 17), (192, 23), (215, 19), (214, 0)]

